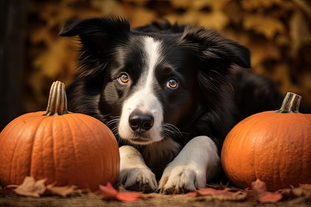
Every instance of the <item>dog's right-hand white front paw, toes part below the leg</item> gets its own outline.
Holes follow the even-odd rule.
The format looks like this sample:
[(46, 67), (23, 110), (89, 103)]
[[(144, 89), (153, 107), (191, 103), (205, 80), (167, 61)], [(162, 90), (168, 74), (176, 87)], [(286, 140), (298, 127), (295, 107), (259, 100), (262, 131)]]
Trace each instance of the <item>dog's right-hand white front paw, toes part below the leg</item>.
[(167, 166), (159, 181), (162, 193), (179, 194), (204, 188), (206, 175), (192, 165)]

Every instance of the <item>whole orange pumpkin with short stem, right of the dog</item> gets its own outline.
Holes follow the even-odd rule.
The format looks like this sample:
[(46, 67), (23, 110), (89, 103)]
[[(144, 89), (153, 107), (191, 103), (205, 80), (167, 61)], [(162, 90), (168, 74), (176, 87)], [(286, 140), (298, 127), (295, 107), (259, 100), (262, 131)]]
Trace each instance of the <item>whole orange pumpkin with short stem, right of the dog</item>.
[(298, 112), (301, 96), (287, 93), (278, 111), (239, 122), (227, 135), (221, 161), (240, 188), (259, 178), (268, 190), (311, 183), (311, 115)]

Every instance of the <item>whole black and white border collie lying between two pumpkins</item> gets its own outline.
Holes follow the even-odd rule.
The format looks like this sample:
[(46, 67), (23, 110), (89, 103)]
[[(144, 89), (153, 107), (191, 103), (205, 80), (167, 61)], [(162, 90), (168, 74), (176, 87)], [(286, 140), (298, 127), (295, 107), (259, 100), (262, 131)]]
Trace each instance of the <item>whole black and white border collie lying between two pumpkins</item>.
[(249, 50), (214, 30), (167, 21), (130, 28), (121, 17), (68, 20), (79, 36), (69, 110), (105, 123), (120, 145), (127, 189), (183, 193), (221, 173), (227, 133), (280, 106), (273, 84), (252, 72)]

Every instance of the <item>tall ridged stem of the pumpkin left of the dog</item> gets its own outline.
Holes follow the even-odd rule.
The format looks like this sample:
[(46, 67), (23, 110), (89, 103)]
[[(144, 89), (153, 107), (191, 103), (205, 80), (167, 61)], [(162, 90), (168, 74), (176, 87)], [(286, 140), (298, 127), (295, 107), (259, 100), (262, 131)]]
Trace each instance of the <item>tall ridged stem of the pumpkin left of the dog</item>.
[(61, 81), (54, 81), (49, 95), (48, 106), (43, 116), (56, 116), (68, 114), (67, 95), (65, 84)]

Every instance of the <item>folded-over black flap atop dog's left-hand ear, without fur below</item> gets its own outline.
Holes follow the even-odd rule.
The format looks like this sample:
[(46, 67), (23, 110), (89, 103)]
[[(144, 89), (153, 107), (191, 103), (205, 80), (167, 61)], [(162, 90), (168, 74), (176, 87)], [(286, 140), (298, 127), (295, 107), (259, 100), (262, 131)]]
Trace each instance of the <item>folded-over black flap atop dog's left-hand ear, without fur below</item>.
[(84, 46), (103, 46), (112, 40), (126, 40), (130, 35), (130, 23), (121, 17), (92, 17), (69, 19), (59, 33), (62, 37), (79, 35)]

